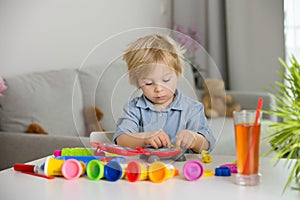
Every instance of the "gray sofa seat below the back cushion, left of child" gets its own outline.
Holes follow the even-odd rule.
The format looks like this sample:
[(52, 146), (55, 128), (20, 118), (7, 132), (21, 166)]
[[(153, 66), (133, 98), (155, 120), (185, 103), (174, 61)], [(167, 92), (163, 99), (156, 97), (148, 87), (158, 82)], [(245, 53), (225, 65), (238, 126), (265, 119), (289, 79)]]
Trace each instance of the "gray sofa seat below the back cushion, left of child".
[(51, 155), (63, 147), (90, 147), (89, 138), (0, 132), (0, 170)]

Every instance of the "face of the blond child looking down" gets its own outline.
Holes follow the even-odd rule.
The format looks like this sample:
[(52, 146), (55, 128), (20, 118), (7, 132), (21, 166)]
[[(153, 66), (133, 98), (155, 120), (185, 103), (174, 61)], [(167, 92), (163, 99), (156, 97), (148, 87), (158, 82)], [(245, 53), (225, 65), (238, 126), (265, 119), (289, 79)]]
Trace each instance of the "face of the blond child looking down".
[(178, 77), (175, 71), (163, 64), (153, 64), (148, 73), (138, 80), (144, 95), (158, 109), (165, 109), (174, 99)]

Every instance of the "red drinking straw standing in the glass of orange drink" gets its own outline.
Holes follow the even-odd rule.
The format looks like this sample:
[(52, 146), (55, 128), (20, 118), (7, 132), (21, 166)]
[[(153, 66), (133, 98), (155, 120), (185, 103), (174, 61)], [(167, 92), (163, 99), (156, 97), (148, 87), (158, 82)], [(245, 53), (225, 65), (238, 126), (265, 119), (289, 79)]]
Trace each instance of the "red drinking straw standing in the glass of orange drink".
[[(258, 119), (260, 117), (260, 110), (262, 108), (263, 101), (264, 101), (263, 98), (258, 99), (257, 108), (256, 108), (256, 115), (255, 115), (255, 121), (254, 121), (254, 127), (258, 126)], [(247, 171), (249, 172), (249, 162), (250, 162), (250, 159), (253, 157), (255, 141), (258, 137), (258, 133), (257, 133), (256, 129), (253, 129), (253, 131), (254, 132), (253, 132), (253, 137), (252, 137), (252, 141), (251, 141), (251, 146), (250, 146), (250, 149), (248, 151), (248, 156), (247, 156), (246, 163), (244, 165), (243, 174), (245, 174)]]

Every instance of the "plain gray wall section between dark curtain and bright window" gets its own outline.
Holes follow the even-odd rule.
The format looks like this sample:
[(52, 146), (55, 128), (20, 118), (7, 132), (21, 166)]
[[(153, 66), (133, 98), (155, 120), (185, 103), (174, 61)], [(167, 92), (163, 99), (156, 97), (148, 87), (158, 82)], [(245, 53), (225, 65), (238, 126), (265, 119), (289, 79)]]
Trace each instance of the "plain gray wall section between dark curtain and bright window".
[(278, 57), (284, 59), (283, 0), (227, 0), (230, 86), (264, 91), (281, 81)]

